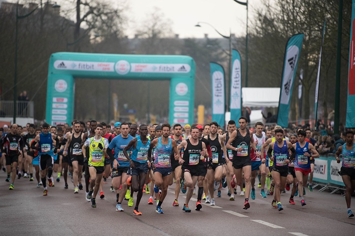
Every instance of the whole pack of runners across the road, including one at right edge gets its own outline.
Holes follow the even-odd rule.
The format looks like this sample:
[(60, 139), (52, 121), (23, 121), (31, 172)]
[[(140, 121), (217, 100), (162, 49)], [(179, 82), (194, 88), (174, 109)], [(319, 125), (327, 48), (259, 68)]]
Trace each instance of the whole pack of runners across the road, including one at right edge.
[[(196, 190), (195, 210), (199, 211), (202, 200), (216, 205), (215, 191), (221, 197), (221, 187), (228, 187), (229, 200), (234, 201), (237, 186), (240, 195), (245, 195), (243, 209), (247, 210), (251, 207), (249, 198), (256, 198), (258, 176), (261, 198), (273, 195), (271, 206), (281, 211), (281, 192), (285, 188), (290, 190), (291, 184), (289, 203), (294, 205), (294, 196), (299, 194), (301, 206), (306, 205), (305, 187), (314, 169), (314, 158), (319, 157), (302, 128), (287, 141), (280, 126), (264, 132), (263, 123), (258, 122), (252, 131), (247, 129), (247, 119), (243, 116), (238, 120), (239, 128), (234, 121), (229, 121), (225, 134), (217, 122), (185, 125), (185, 134), (180, 124), (172, 127), (155, 124), (149, 130), (147, 125), (140, 125), (139, 135), (137, 125), (127, 122), (117, 122), (113, 133), (107, 132), (105, 123), (92, 120), (87, 125), (88, 131), (84, 132), (85, 124), (78, 121), (68, 128), (44, 123), (36, 129), (30, 124), (28, 133), (21, 136), (18, 125), (13, 124), (0, 142), (1, 163), (6, 160), (6, 181), (11, 182), (9, 189), (14, 189), (16, 176), (21, 177), (22, 169), (26, 170), (23, 176), (28, 176), (28, 171), (29, 181), (33, 181), (34, 167), (37, 186), (43, 185), (45, 196), (47, 180), (49, 187), (54, 186), (53, 171), (58, 172), (58, 182), (63, 171), (64, 188), (68, 188), (69, 171), (74, 193), (83, 189), (81, 179), (85, 172), (85, 198), (93, 208), (98, 192), (104, 198), (103, 182), (111, 176), (110, 190), (116, 191), (116, 211), (124, 211), (124, 200), (132, 207), (133, 193), (137, 192), (133, 214), (142, 215), (138, 207), (146, 191), (151, 193), (148, 204), (154, 204), (155, 194), (156, 212), (164, 213), (162, 204), (174, 180), (172, 206), (180, 206), (178, 199), (182, 191), (186, 193), (184, 212), (191, 212), (189, 202)], [(65, 134), (60, 132), (64, 130)], [(337, 162), (342, 161), (340, 175), (346, 187), (348, 217), (354, 216), (350, 209), (351, 193), (355, 189), (353, 137), (353, 132), (347, 131), (346, 143), (336, 152)], [(309, 190), (312, 191), (311, 185)]]

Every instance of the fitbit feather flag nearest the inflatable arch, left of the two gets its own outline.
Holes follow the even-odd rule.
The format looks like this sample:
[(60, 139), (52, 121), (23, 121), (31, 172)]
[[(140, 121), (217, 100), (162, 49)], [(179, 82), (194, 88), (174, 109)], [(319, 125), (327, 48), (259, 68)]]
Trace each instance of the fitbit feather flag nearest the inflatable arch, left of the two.
[(211, 68), (211, 86), (212, 86), (212, 121), (215, 121), (221, 127), (225, 123), (225, 85), (224, 69), (215, 62), (210, 62)]

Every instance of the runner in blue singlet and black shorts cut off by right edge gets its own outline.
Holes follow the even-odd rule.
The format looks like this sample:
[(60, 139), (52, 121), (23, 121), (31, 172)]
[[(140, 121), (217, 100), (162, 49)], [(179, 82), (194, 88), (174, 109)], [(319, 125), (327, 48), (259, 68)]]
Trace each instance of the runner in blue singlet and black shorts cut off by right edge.
[(347, 207), (347, 217), (353, 217), (351, 211), (351, 193), (355, 190), (355, 145), (353, 143), (354, 133), (352, 131), (345, 132), (345, 141), (342, 146), (335, 152), (337, 163), (342, 159), (340, 175), (345, 185), (345, 202)]

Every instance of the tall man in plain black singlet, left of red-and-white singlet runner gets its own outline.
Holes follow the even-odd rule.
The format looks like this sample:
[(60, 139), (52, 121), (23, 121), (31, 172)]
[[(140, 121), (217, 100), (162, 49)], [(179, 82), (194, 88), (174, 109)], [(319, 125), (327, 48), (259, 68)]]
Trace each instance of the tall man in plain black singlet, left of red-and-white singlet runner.
[[(243, 209), (246, 210), (250, 208), (249, 196), (251, 190), (250, 178), (252, 174), (252, 161), (250, 158), (250, 147), (255, 151), (255, 154), (260, 157), (260, 153), (255, 145), (253, 134), (246, 129), (247, 119), (241, 116), (238, 120), (239, 129), (233, 131), (227, 142), (227, 148), (233, 150), (233, 168), (235, 174), (236, 184), (242, 184), (244, 173), (245, 181), (245, 202)], [(235, 180), (232, 183), (235, 185)], [(233, 187), (233, 185), (232, 185)]]

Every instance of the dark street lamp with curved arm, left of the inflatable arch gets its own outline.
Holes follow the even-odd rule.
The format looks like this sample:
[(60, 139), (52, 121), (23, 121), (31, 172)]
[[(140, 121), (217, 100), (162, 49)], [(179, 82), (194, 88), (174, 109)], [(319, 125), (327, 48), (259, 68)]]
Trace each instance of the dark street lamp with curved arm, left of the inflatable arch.
[[(47, 2), (47, 4), (49, 3), (53, 3), (53, 2)], [(28, 16), (30, 16), (35, 10), (37, 10), (39, 7), (42, 7), (42, 2), (41, 4), (39, 4), (37, 7), (35, 7), (32, 11), (30, 11), (28, 14), (23, 15), (23, 16), (19, 16), (18, 15), (18, 2), (16, 4), (16, 29), (15, 29), (15, 71), (14, 71), (14, 114), (13, 114), (13, 124), (16, 123), (16, 115), (17, 115), (17, 106), (16, 106), (16, 101), (17, 101), (17, 48), (18, 48), (18, 42), (17, 42), (17, 38), (18, 38), (18, 20), (19, 19), (23, 19), (26, 18)], [(57, 5), (56, 2), (54, 2), (54, 4), (52, 5), (52, 8), (60, 8), (59, 5)]]

